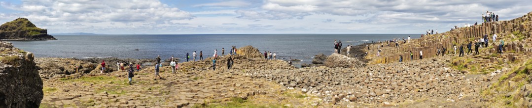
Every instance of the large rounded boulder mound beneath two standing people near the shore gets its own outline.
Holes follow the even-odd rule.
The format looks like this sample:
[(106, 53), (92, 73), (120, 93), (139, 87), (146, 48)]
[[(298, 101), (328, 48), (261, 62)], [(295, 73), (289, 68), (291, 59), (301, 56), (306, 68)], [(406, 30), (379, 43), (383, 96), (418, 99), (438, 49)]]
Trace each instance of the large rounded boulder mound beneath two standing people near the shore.
[(325, 61), (325, 66), (330, 68), (355, 68), (364, 67), (365, 63), (356, 58), (350, 58), (345, 55), (333, 53), (331, 56), (327, 57), (327, 60)]

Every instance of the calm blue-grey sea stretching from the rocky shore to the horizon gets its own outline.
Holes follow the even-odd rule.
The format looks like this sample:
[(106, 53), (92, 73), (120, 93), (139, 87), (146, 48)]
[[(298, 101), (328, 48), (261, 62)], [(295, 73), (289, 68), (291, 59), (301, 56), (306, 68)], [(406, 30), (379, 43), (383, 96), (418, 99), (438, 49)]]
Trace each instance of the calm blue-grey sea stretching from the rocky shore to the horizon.
[[(152, 59), (161, 55), (172, 55), (184, 61), (188, 52), (203, 51), (204, 57), (213, 55), (214, 50), (231, 46), (237, 48), (251, 45), (260, 51), (277, 53), (277, 58), (300, 59), (310, 62), (314, 55), (330, 55), (334, 51), (334, 40), (348, 44), (389, 40), (393, 38), (419, 38), (419, 34), (180, 34), (180, 35), (54, 35), (51, 41), (10, 41), (15, 47), (33, 52), (36, 57), (62, 58), (136, 58)], [(135, 49), (139, 49), (136, 51)]]

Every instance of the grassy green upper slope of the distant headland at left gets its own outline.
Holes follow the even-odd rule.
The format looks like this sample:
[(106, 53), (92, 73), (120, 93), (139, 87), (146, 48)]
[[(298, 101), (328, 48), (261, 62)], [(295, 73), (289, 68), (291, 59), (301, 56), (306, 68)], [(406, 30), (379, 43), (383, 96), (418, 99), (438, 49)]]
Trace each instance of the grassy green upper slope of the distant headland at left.
[(35, 24), (31, 23), (26, 18), (18, 18), (11, 22), (4, 23), (0, 26), (0, 31), (19, 31), (19, 30), (42, 31), (44, 29), (37, 28)]

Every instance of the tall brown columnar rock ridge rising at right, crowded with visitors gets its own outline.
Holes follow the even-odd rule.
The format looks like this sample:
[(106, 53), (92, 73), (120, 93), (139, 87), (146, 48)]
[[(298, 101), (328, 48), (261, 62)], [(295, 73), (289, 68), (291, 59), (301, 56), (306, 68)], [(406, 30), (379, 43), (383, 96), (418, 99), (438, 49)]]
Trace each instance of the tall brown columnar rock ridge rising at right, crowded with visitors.
[[(519, 40), (523, 39), (523, 37), (530, 37), (530, 32), (532, 32), (532, 28), (530, 28), (532, 23), (529, 23), (530, 21), (532, 21), (532, 12), (510, 21), (481, 23), (471, 27), (454, 29), (445, 33), (423, 36), (420, 39), (413, 39), (408, 43), (400, 42), (400, 46), (397, 48), (383, 50), (380, 57), (375, 56), (377, 51), (376, 48), (381, 44), (386, 46), (386, 42), (373, 44), (371, 45), (372, 50), (368, 51), (367, 49), (364, 49), (364, 51), (370, 53), (368, 58), (373, 58), (373, 61), (370, 62), (373, 64), (397, 62), (400, 58), (399, 55), (403, 56), (404, 61), (410, 61), (410, 51), (413, 52), (414, 60), (419, 59), (419, 51), (423, 51), (423, 58), (436, 56), (437, 49), (441, 49), (442, 47), (447, 49), (445, 53), (454, 53), (453, 45), (455, 44), (458, 49), (460, 48), (460, 45), (463, 45), (464, 51), (467, 51), (466, 45), (470, 41), (475, 43), (479, 38), (484, 37), (484, 35), (487, 34), (489, 40), (488, 47), (493, 46), (489, 51), (496, 52), (498, 41), (495, 42), (495, 44), (492, 42), (492, 36), (495, 33), (499, 38), (511, 37), (512, 39), (516, 39), (513, 41), (505, 40), (505, 46), (503, 47), (504, 51), (530, 53), (532, 52), (532, 49), (526, 46), (530, 46), (531, 43), (529, 42), (532, 40)], [(390, 43), (390, 46), (395, 47), (395, 44)], [(459, 50), (456, 50), (456, 53), (458, 52)]]

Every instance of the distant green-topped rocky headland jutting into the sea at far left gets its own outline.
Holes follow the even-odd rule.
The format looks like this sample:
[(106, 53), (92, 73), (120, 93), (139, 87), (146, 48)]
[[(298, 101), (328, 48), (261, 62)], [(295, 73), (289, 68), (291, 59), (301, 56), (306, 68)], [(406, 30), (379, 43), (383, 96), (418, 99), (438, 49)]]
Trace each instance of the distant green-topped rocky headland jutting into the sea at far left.
[(28, 19), (18, 18), (0, 26), (1, 40), (56, 40), (46, 29), (37, 28)]

